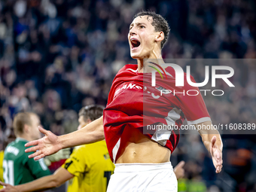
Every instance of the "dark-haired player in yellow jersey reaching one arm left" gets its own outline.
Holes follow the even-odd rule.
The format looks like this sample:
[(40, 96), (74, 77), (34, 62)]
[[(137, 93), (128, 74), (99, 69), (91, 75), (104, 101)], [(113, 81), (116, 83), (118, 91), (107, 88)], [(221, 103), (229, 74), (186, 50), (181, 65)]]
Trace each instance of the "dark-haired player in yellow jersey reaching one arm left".
[[(89, 105), (82, 108), (79, 112), (78, 129), (101, 117), (102, 113), (103, 107), (101, 105)], [(72, 184), (69, 184), (69, 192), (105, 192), (109, 178), (113, 172), (114, 164), (109, 158), (108, 149), (103, 140), (93, 144), (81, 145), (75, 149), (71, 157), (53, 175), (16, 186), (1, 182), (0, 184), (3, 184), (5, 188), (0, 191), (28, 192), (47, 190), (74, 178)]]

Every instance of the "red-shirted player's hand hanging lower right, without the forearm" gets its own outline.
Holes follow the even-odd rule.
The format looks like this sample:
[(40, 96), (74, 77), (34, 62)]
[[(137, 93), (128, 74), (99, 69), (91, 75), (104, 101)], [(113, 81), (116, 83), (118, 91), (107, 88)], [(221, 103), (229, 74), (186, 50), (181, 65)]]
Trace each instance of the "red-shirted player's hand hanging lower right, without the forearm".
[(222, 161), (222, 151), (216, 145), (216, 136), (212, 137), (211, 146), (210, 146), (210, 153), (212, 155), (212, 162), (213, 162), (213, 165), (215, 166), (216, 173), (221, 172), (222, 163), (223, 163), (223, 161)]

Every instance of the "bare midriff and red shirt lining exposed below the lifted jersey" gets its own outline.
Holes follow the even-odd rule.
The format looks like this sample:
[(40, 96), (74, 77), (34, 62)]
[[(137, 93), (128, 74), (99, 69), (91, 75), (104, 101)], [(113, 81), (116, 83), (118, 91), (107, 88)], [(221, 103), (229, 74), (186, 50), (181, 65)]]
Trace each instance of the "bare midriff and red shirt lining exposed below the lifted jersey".
[(166, 163), (171, 151), (148, 139), (137, 129), (124, 129), (116, 163)]

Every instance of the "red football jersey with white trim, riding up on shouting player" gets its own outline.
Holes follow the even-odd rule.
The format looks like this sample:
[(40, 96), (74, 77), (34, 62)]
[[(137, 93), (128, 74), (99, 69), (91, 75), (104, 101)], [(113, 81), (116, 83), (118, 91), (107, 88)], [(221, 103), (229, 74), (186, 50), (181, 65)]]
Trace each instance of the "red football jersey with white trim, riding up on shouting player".
[[(165, 71), (167, 79), (156, 73), (155, 87), (151, 86), (151, 73), (139, 73), (137, 65), (124, 66), (115, 76), (103, 111), (105, 141), (114, 163), (124, 129), (139, 129), (148, 138), (174, 151), (178, 145), (178, 130), (161, 133), (147, 130), (148, 126), (163, 123), (180, 127), (185, 118), (188, 124), (211, 120), (200, 90), (187, 84), (186, 74), (184, 87), (175, 87), (174, 69), (167, 67)], [(194, 81), (192, 76), (190, 79)], [(194, 91), (187, 94), (187, 90)], [(195, 95), (195, 90), (199, 94), (190, 96)]]

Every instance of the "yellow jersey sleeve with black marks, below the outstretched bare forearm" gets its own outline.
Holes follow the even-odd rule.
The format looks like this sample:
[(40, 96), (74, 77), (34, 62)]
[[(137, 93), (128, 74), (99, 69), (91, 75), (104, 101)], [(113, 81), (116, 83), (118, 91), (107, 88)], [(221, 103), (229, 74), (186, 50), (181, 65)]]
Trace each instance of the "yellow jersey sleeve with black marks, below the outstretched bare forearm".
[(81, 173), (85, 172), (86, 162), (84, 158), (84, 146), (73, 151), (69, 159), (62, 165), (72, 175), (79, 176)]

